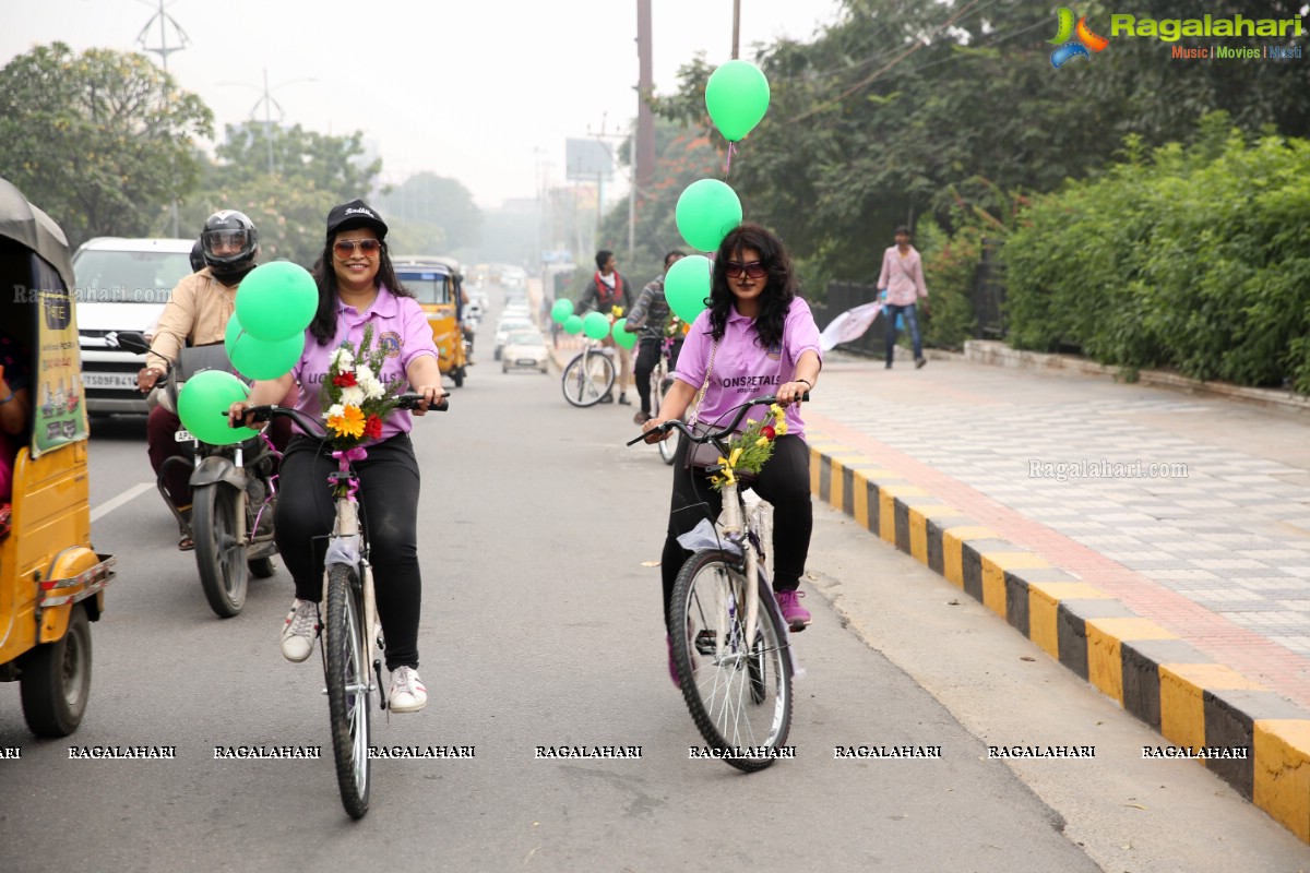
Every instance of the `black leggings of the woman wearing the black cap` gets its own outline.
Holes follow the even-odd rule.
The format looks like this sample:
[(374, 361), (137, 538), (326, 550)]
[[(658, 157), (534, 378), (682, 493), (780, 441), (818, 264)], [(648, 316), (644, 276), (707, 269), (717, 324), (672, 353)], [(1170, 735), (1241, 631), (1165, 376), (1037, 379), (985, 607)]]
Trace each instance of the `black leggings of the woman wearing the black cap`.
[[(322, 599), (326, 535), (337, 516), (328, 476), (337, 461), (312, 437), (292, 440), (279, 478), (278, 551), (296, 581), (296, 597)], [(354, 465), (368, 529), (377, 616), (386, 636), (386, 669), (418, 666), (418, 613), (423, 584), (418, 567), (418, 461), (409, 435), (368, 446)], [(316, 539), (316, 537), (318, 539)]]

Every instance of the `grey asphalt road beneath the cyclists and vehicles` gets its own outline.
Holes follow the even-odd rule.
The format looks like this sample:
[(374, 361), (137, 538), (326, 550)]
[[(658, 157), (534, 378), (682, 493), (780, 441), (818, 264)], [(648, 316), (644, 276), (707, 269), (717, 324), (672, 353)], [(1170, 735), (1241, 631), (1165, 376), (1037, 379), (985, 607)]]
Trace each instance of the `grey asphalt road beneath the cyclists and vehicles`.
[[(92, 698), (72, 738), (34, 741), (17, 686), (0, 686), (0, 747), (22, 749), (0, 760), (0, 870), (1100, 869), (1106, 856), (1066, 836), (1057, 809), (1064, 791), (1096, 791), (1093, 771), (1047, 770), (1039, 797), (1022, 768), (989, 760), (986, 707), (952, 713), (938, 699), (950, 703), (950, 687), (930, 694), (912, 678), (931, 669), (922, 639), (875, 648), (876, 622), (828, 601), (849, 607), (841, 594), (867, 594), (866, 576), (887, 584), (926, 571), (821, 507), (806, 601), (815, 622), (795, 637), (807, 670), (794, 686), (796, 759), (755, 775), (689, 760), (701, 741), (667, 675), (659, 571), (643, 565), (659, 556), (668, 467), (654, 449), (622, 446), (630, 408), (575, 410), (557, 376), (502, 374), (486, 351), (481, 359), (452, 411), (415, 428), (428, 707), (373, 722), (380, 745), (474, 746), (476, 757), (375, 762), (371, 811), (350, 821), (318, 660), (292, 665), (278, 650), (286, 571), (252, 580), (245, 611), (217, 619), (194, 555), (176, 550), (166, 509), (140, 487), (151, 478), (143, 423), (97, 423), (93, 535), (118, 556), (119, 575), (93, 626)], [(941, 601), (937, 620), (955, 620), (941, 618)], [(968, 633), (980, 653), (992, 635), (1015, 643), (1000, 622)], [(1056, 699), (1093, 694), (1069, 677), (1053, 683)], [(1116, 716), (1132, 722), (1106, 719)], [(1096, 742), (1083, 713), (1053, 717), (1034, 742)], [(71, 745), (176, 746), (177, 758), (75, 760)], [(232, 745), (320, 746), (325, 757), (215, 759), (215, 746)], [(642, 758), (534, 757), (559, 745), (641, 746)], [(833, 758), (852, 745), (943, 751), (941, 760)], [(1062, 787), (1055, 798), (1049, 780)], [(1239, 830), (1272, 840), (1275, 860), (1246, 869), (1301, 860), (1258, 811), (1220, 801), (1230, 818), (1252, 815)], [(1197, 814), (1220, 813), (1203, 798)], [(1117, 839), (1098, 827), (1086, 825)], [(1205, 869), (1204, 857), (1189, 869)], [(1157, 865), (1133, 869), (1175, 869), (1175, 860), (1162, 849)]]

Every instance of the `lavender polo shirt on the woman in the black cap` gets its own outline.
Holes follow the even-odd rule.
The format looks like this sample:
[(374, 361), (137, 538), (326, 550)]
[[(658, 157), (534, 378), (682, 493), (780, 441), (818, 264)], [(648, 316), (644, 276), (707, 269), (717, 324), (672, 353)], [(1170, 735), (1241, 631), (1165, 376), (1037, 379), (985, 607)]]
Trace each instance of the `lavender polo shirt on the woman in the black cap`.
[[(324, 377), (328, 374), (329, 361), (333, 353), (341, 348), (345, 340), (355, 344), (364, 339), (364, 327), (373, 326), (373, 346), (386, 349), (386, 359), (383, 361), (383, 372), (379, 378), (384, 385), (396, 378), (406, 378), (405, 370), (410, 361), (422, 355), (436, 357), (436, 343), (432, 342), (432, 329), (427, 323), (423, 308), (413, 297), (397, 297), (386, 285), (377, 287), (377, 297), (373, 305), (364, 313), (359, 313), (354, 306), (348, 306), (337, 300), (337, 335), (326, 346), (320, 346), (318, 340), (308, 330), (305, 331), (305, 351), (300, 360), (291, 368), (291, 376), (300, 383), (300, 398), (296, 408), (305, 415), (322, 420), (322, 390)], [(397, 433), (409, 433), (414, 427), (414, 420), (405, 410), (393, 411), (386, 423), (383, 424), (383, 440)], [(299, 429), (299, 428), (297, 428)], [(368, 445), (365, 442), (365, 445)]]

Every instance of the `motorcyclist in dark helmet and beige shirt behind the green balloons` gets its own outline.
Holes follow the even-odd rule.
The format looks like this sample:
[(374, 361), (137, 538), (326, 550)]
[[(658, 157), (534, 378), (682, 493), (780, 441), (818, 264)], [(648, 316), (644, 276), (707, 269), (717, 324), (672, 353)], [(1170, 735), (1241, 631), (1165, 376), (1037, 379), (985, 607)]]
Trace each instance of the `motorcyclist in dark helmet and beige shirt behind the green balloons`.
[[(143, 393), (155, 387), (185, 346), (223, 342), (228, 319), (236, 310), (237, 287), (255, 267), (259, 232), (242, 212), (223, 209), (211, 215), (204, 221), (199, 242), (204, 267), (177, 284), (160, 314), (145, 366), (136, 374), (136, 386)], [(145, 440), (156, 475), (168, 458), (187, 457), (187, 446), (174, 438), (179, 427), (174, 410), (164, 404), (151, 410)], [(170, 465), (165, 486), (177, 509), (187, 516), (191, 509), (187, 467)], [(193, 547), (191, 538), (183, 531), (178, 548), (189, 551)]]

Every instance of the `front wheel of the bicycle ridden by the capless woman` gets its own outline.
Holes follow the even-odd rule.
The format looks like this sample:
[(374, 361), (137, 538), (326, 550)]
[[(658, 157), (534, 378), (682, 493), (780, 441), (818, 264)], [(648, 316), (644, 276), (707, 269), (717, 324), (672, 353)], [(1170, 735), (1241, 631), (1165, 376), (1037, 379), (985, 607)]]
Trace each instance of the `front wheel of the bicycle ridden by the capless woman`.
[[(760, 594), (758, 627), (745, 639), (745, 586)], [(723, 759), (747, 772), (774, 762), (791, 728), (791, 658), (762, 579), (717, 548), (696, 552), (673, 585), (673, 662), (696, 728)]]

